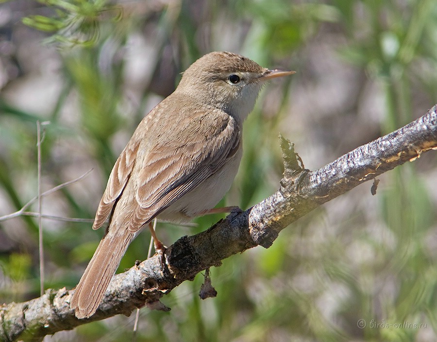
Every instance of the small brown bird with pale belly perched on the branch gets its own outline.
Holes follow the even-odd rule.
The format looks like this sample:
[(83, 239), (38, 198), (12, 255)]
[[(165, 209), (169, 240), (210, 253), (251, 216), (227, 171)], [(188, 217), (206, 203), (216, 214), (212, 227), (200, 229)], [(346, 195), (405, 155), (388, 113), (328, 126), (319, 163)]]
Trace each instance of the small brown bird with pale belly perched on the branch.
[(184, 72), (111, 171), (93, 229), (109, 224), (73, 294), (76, 317), (96, 312), (129, 244), (153, 218), (188, 221), (214, 208), (238, 170), (242, 124), (264, 81), (291, 74), (230, 52), (208, 53)]

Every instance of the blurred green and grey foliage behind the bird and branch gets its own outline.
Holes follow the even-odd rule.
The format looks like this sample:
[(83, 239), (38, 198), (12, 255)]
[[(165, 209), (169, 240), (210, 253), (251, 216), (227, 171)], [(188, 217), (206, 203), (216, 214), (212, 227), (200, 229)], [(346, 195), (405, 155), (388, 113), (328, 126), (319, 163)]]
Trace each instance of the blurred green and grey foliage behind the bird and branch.
[[(297, 71), (270, 82), (245, 123), (244, 157), (222, 204), (246, 209), (279, 187), (277, 136), (317, 169), (422, 115), (437, 99), (434, 0), (12, 0), (0, 5), (0, 216), (42, 187), (43, 213), (93, 218), (134, 128), (203, 54), (230, 50)], [(437, 156), (353, 189), (255, 248), (142, 309), (137, 341), (436, 341)], [(36, 210), (33, 206), (32, 210)], [(167, 244), (204, 230), (159, 224)], [(102, 231), (44, 219), (46, 288), (72, 288)], [(39, 295), (36, 219), (0, 222), (0, 302)], [(147, 232), (122, 271), (143, 260)], [(365, 326), (362, 321), (365, 320)], [(126, 341), (134, 315), (46, 341)], [(417, 324), (417, 327), (411, 326)], [(421, 324), (421, 326), (420, 326)], [(401, 326), (398, 326), (401, 325)]]

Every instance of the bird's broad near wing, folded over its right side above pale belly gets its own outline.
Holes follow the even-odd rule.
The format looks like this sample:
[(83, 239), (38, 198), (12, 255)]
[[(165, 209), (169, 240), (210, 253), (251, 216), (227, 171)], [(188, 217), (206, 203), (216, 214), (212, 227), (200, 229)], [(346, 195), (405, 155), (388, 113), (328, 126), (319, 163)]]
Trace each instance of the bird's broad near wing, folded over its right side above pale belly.
[(235, 154), (240, 129), (234, 118), (215, 109), (190, 116), (192, 120), (176, 123), (178, 128), (170, 133), (167, 141), (173, 146), (156, 146), (143, 160), (130, 230), (141, 228)]

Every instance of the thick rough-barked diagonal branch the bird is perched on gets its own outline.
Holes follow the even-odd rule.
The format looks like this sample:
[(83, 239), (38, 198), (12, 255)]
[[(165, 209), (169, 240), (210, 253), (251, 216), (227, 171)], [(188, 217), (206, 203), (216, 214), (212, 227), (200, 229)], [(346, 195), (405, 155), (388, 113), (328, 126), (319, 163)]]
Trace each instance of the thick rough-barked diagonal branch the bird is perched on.
[(157, 256), (118, 274), (95, 315), (78, 320), (68, 303), (74, 290), (47, 290), (24, 303), (0, 307), (0, 339), (41, 341), (45, 335), (72, 329), (117, 313), (129, 315), (145, 304), (167, 310), (160, 302), (185, 280), (221, 260), (257, 245), (269, 247), (291, 222), (320, 204), (376, 176), (437, 149), (437, 107), (418, 120), (358, 147), (317, 171), (303, 169), (293, 145), (281, 140), (286, 170), (281, 189), (241, 214), (231, 214), (207, 231), (184, 236), (170, 246), (161, 270)]

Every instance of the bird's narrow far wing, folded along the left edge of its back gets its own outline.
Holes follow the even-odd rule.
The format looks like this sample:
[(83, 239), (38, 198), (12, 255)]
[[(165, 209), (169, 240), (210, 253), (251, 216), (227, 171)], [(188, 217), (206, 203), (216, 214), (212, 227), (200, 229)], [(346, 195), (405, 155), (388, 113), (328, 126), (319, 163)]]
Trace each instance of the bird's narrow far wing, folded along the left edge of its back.
[(109, 175), (106, 189), (101, 197), (94, 219), (93, 229), (100, 228), (111, 214), (114, 204), (120, 197), (129, 177), (134, 169), (135, 157), (138, 151), (139, 140), (132, 139), (121, 152), (111, 174)]

